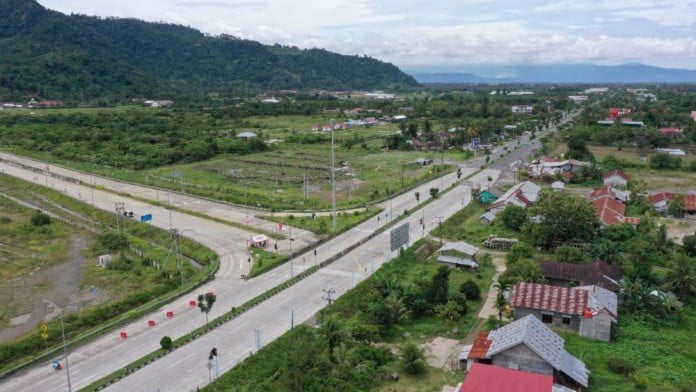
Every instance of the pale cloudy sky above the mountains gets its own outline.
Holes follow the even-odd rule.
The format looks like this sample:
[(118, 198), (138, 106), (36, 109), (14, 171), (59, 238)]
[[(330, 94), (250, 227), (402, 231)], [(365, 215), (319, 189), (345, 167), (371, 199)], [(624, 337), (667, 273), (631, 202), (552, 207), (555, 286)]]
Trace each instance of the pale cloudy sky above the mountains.
[(398, 66), (645, 64), (696, 69), (696, 0), (38, 0), (65, 14), (182, 24)]

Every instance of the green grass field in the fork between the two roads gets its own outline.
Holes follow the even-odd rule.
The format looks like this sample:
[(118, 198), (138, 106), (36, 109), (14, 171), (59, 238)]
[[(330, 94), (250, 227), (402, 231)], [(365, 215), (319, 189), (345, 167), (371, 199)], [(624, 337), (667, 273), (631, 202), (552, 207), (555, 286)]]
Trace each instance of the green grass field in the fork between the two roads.
[[(271, 209), (322, 210), (331, 205), (331, 151), (326, 145), (279, 144), (273, 151), (143, 172), (120, 172), (129, 180), (184, 189), (212, 198)], [(436, 162), (441, 154), (337, 148), (336, 200), (339, 208), (364, 207), (419, 182), (435, 178), (440, 165), (411, 163), (417, 158)], [(459, 157), (450, 153), (445, 157)], [(305, 197), (306, 196), (306, 197)]]

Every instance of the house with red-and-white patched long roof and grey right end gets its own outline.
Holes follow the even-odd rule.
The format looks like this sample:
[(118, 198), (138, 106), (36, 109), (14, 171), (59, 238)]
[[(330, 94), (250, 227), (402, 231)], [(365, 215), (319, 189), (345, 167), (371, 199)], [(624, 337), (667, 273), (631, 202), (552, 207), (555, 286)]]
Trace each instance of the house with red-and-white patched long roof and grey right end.
[(616, 326), (617, 301), (616, 293), (595, 285), (569, 288), (520, 282), (510, 303), (515, 320), (532, 315), (549, 327), (609, 341)]

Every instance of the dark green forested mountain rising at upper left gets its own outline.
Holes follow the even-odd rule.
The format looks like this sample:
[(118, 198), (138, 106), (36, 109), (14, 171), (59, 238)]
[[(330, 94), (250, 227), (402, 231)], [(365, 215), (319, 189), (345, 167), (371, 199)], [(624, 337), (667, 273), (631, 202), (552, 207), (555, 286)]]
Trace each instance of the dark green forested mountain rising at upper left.
[(404, 89), (416, 81), (375, 59), (267, 46), (135, 19), (64, 15), (0, 1), (0, 99), (88, 99)]

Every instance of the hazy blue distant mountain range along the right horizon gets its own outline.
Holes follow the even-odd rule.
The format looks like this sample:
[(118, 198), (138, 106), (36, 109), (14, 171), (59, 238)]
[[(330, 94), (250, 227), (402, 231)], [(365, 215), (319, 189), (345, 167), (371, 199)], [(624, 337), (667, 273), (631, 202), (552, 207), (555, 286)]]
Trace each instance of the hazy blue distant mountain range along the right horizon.
[(645, 64), (472, 64), (401, 69), (419, 83), (696, 83), (696, 70)]

